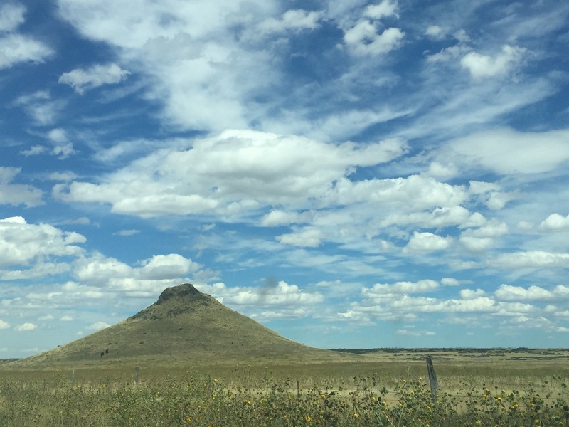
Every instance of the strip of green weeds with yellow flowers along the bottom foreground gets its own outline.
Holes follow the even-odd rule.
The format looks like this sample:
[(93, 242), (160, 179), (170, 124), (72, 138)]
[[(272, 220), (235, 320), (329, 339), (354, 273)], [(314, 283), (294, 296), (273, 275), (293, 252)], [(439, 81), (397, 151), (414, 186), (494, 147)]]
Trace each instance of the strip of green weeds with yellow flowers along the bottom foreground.
[[(421, 377), (378, 374), (318, 381), (235, 369), (227, 378), (190, 369), (176, 376), (0, 380), (0, 426), (568, 426), (566, 381), (549, 377), (523, 390), (459, 384), (433, 398)], [(81, 376), (81, 373), (78, 374)], [(298, 382), (297, 382), (298, 381)], [(309, 382), (302, 379), (303, 384)]]

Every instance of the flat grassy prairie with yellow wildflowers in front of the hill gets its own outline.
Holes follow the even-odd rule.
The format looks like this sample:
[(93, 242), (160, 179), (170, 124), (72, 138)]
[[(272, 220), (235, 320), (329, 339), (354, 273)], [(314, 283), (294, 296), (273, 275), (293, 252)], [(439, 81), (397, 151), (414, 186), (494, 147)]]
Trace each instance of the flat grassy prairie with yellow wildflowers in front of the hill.
[(433, 399), (424, 354), (395, 356), (0, 369), (0, 426), (569, 426), (567, 357), (438, 354)]

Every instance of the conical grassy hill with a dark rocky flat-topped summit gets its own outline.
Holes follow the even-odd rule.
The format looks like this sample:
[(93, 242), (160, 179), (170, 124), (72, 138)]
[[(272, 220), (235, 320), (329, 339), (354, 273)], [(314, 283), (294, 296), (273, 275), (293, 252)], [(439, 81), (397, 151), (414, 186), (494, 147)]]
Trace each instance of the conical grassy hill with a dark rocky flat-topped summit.
[(229, 364), (347, 357), (292, 342), (184, 283), (166, 288), (154, 304), (116, 325), (11, 364)]

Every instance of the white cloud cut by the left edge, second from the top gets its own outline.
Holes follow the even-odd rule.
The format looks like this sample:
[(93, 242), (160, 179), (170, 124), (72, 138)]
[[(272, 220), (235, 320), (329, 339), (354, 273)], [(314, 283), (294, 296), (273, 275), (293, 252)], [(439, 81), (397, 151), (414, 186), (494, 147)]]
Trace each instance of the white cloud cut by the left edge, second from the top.
[(22, 34), (0, 36), (0, 70), (23, 62), (42, 63), (53, 51), (41, 41)]

